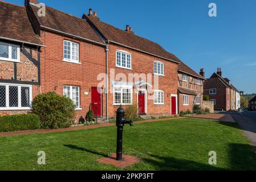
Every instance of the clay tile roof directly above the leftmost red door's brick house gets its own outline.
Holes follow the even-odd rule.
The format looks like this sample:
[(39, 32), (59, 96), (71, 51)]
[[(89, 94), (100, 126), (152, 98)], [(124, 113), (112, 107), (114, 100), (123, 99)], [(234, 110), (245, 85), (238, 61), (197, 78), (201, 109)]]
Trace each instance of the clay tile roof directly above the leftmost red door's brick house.
[(92, 40), (94, 42), (104, 43), (85, 19), (64, 13), (49, 6), (46, 6), (46, 16), (39, 17), (37, 15), (38, 7), (33, 5), (30, 6), (34, 11), (40, 26)]

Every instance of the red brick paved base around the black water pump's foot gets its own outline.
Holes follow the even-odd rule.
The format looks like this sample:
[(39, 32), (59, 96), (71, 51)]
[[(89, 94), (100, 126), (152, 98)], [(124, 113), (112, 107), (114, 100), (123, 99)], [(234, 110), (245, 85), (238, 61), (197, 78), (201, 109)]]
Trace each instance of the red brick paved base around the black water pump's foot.
[(123, 155), (123, 160), (119, 161), (116, 160), (116, 153), (113, 153), (109, 155), (107, 158), (97, 159), (97, 162), (103, 164), (111, 164), (115, 167), (120, 167), (124, 169), (125, 167), (133, 166), (134, 164), (139, 163), (140, 159), (131, 155)]

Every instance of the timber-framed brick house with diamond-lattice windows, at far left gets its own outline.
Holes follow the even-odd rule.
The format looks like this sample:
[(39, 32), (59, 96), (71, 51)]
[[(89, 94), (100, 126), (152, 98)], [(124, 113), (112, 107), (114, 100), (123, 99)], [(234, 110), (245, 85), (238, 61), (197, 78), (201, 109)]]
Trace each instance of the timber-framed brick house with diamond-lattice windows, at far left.
[(40, 93), (40, 52), (26, 7), (0, 1), (0, 114), (27, 113)]

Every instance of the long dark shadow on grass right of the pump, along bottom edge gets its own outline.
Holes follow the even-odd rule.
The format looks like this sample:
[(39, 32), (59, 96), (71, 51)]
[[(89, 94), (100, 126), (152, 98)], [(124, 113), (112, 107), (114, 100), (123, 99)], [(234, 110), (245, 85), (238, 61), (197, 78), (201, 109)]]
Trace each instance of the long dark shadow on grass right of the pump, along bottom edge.
[(153, 159), (144, 158), (145, 163), (149, 163), (160, 171), (223, 171), (224, 168), (202, 164), (191, 160), (176, 159), (172, 157), (150, 155)]

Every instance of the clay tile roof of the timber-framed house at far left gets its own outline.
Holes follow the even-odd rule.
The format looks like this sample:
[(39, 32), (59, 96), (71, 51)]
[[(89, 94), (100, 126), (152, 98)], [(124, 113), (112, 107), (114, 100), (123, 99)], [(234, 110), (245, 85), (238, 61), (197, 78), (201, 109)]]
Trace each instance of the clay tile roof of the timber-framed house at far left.
[(0, 19), (1, 37), (42, 45), (32, 28), (25, 6), (0, 1)]

